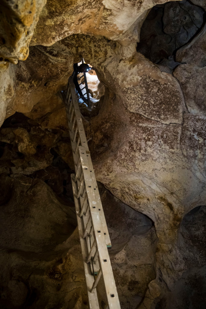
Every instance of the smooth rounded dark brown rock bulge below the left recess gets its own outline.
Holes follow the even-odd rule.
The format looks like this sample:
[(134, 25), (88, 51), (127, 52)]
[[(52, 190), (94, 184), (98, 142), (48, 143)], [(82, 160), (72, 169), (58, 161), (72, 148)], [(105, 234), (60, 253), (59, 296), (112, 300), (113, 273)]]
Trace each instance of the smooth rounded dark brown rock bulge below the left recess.
[[(62, 205), (43, 181), (2, 175), (1, 187), (7, 196), (1, 206), (1, 247), (6, 240), (7, 249), (44, 252), (67, 239), (74, 230), (74, 212)], [(61, 234), (60, 238), (53, 237), (53, 229)]]

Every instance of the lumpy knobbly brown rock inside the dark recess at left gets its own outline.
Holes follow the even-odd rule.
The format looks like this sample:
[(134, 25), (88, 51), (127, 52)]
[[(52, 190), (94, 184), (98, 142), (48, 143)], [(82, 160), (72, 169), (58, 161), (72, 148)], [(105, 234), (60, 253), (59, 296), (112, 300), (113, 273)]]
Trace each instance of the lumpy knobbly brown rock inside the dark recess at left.
[(8, 160), (11, 160), (11, 172), (24, 174), (31, 174), (52, 163), (53, 156), (49, 150), (56, 146), (58, 135), (35, 128), (35, 123), (33, 125), (29, 133), (24, 128), (1, 129), (0, 140), (7, 143), (0, 159), (3, 170)]

